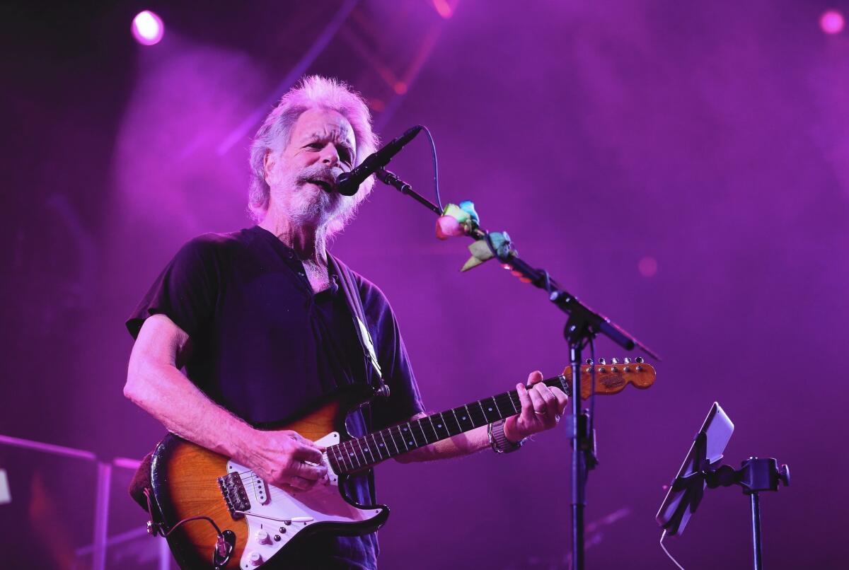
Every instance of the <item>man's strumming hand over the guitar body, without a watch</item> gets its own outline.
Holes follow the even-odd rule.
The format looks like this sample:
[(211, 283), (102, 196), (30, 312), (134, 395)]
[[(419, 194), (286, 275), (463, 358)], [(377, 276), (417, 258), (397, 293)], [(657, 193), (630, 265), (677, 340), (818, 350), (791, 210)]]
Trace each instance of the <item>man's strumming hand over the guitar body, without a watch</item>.
[(305, 491), (327, 477), (322, 461), (323, 447), (290, 429), (276, 432), (255, 430), (246, 451), (248, 467), (276, 487), (290, 492)]

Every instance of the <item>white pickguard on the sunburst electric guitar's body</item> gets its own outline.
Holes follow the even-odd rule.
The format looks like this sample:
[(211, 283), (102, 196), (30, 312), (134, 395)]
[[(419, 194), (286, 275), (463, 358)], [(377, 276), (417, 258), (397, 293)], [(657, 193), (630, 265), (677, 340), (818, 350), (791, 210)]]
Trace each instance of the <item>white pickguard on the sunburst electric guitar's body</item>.
[[(329, 433), (316, 441), (323, 446), (339, 443), (339, 433)], [(250, 499), (250, 510), (243, 511), (248, 522), (248, 540), (239, 567), (250, 570), (261, 566), (283, 548), (301, 530), (319, 522), (362, 522), (377, 517), (383, 509), (358, 509), (339, 492), (339, 477), (327, 459), (328, 478), (308, 491), (292, 494), (269, 485), (256, 475), (243, 477)], [(228, 461), (228, 472), (249, 472), (238, 463)]]

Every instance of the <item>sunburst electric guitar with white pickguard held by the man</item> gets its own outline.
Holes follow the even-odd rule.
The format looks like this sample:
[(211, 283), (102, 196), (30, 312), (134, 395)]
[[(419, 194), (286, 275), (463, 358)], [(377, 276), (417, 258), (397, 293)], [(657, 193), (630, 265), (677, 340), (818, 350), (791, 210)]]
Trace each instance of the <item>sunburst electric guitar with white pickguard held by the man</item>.
[[(592, 386), (595, 393), (617, 394), (631, 383), (649, 388), (655, 368), (642, 358), (604, 360), (582, 365), (582, 398)], [(571, 367), (562, 375), (543, 380), (571, 396)], [(239, 465), (199, 445), (169, 434), (157, 445), (151, 462), (154, 507), (161, 519), (177, 562), (183, 568), (261, 567), (273, 556), (285, 558), (287, 545), (306, 534), (366, 534), (377, 530), (389, 517), (385, 505), (358, 505), (344, 496), (340, 483), (354, 472), (464, 433), (520, 412), (515, 390), (442, 411), (413, 422), (401, 423), (353, 438), (345, 417), (373, 393), (349, 390), (337, 394), (295, 421), (281, 425), (326, 447), (323, 462), (328, 477), (312, 489), (290, 494), (264, 481), (248, 467)]]

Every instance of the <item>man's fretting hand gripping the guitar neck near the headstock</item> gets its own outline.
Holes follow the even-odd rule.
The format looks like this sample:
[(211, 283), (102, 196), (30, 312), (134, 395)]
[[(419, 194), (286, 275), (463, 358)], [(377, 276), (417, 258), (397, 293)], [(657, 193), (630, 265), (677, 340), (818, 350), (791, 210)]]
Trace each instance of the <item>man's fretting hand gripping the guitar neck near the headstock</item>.
[(563, 390), (548, 388), (542, 381), (543, 373), (537, 371), (528, 376), (530, 390), (524, 384), (516, 384), (522, 411), (504, 420), (504, 436), (514, 443), (556, 426), (566, 409), (569, 398)]

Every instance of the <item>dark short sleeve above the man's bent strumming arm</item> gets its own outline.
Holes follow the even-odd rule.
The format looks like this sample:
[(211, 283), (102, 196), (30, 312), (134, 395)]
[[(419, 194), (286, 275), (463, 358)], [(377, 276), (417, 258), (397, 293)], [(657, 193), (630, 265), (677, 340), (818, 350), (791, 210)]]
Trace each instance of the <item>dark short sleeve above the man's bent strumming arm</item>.
[(218, 293), (215, 244), (197, 237), (186, 243), (132, 311), (127, 330), (138, 337), (145, 319), (165, 315), (189, 338), (203, 336)]

